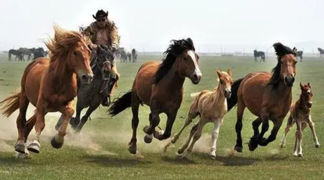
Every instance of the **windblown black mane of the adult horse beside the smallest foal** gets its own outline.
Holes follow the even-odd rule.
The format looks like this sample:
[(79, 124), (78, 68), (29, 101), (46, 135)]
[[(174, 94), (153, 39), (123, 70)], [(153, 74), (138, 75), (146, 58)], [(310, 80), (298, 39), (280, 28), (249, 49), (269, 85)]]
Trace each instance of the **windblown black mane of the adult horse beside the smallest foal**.
[(280, 82), (280, 71), (281, 71), (281, 58), (286, 55), (286, 54), (294, 54), (296, 56), (296, 49), (294, 48), (293, 50), (290, 49), (287, 46), (284, 46), (280, 42), (274, 43), (273, 44), (274, 50), (276, 51), (277, 55), (277, 65), (272, 69), (272, 76), (268, 82), (269, 85), (272, 85), (273, 88), (278, 87), (279, 82)]

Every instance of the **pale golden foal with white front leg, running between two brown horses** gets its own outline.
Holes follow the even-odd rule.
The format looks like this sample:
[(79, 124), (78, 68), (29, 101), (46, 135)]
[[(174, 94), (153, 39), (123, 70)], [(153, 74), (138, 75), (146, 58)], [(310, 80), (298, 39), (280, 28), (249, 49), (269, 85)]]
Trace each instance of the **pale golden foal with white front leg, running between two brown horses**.
[[(211, 159), (216, 158), (216, 143), (218, 139), (219, 128), (223, 122), (223, 118), (227, 112), (227, 101), (226, 98), (231, 96), (231, 85), (232, 85), (232, 73), (230, 70), (226, 72), (216, 71), (219, 77), (218, 87), (213, 91), (203, 90), (199, 93), (191, 94), (192, 97), (195, 97), (194, 101), (191, 104), (188, 117), (180, 129), (180, 131), (174, 135), (172, 138), (172, 143), (175, 143), (183, 131), (191, 122), (192, 119), (200, 116), (199, 121), (193, 125), (187, 141), (179, 148), (178, 153), (181, 154), (188, 148), (188, 145), (193, 137), (190, 147), (187, 152), (191, 152), (193, 145), (200, 138), (203, 130), (203, 126), (207, 122), (214, 123), (214, 130), (212, 135), (212, 147), (210, 150), (209, 157)], [(183, 154), (184, 156), (186, 153)]]

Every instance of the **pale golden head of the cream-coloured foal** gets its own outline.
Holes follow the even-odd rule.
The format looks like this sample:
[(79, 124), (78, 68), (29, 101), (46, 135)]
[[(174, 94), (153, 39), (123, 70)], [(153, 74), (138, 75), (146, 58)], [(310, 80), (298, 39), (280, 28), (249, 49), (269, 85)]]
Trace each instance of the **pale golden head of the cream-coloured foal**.
[(221, 88), (226, 98), (230, 98), (232, 94), (231, 86), (233, 84), (231, 70), (228, 69), (227, 72), (217, 70), (216, 73), (219, 78), (219, 88)]

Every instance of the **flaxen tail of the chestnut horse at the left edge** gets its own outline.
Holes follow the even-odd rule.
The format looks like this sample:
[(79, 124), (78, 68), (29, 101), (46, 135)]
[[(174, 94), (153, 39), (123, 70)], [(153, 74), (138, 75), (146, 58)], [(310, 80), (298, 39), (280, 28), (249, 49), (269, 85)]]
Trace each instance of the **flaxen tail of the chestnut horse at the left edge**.
[(0, 113), (9, 117), (19, 108), (21, 91), (16, 92), (0, 102)]

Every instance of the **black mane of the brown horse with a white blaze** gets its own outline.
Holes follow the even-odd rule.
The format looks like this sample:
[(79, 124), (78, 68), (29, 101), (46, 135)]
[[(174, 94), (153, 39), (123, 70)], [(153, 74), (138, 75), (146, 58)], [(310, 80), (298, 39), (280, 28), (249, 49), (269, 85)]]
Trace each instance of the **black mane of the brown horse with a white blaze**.
[(195, 51), (195, 47), (190, 38), (180, 39), (180, 40), (171, 40), (167, 51), (163, 53), (165, 58), (163, 62), (159, 65), (158, 70), (155, 74), (155, 83), (157, 84), (171, 69), (172, 65), (183, 51), (189, 49)]

